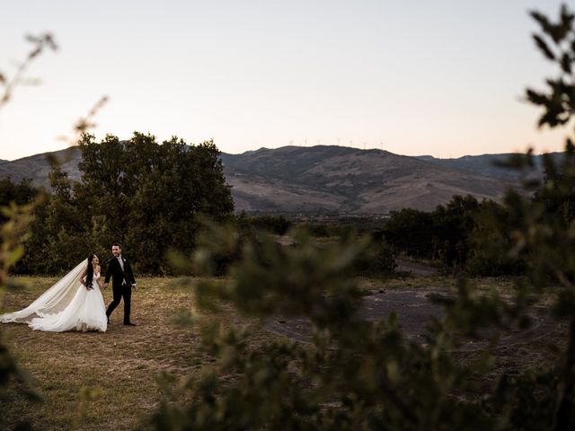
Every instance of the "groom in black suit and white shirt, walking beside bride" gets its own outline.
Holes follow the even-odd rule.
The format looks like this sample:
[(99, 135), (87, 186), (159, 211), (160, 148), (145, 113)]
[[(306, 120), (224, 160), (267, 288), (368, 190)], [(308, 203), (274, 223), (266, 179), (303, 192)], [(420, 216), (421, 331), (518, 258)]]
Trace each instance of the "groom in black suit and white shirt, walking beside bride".
[(128, 259), (122, 256), (122, 247), (118, 242), (114, 242), (111, 246), (111, 254), (114, 255), (108, 261), (108, 268), (106, 269), (106, 278), (104, 279), (104, 288), (110, 286), (114, 294), (114, 300), (106, 310), (108, 316), (108, 323), (110, 323), (111, 312), (119, 305), (119, 300), (124, 298), (124, 324), (129, 326), (136, 326), (135, 323), (129, 321), (129, 305), (132, 297), (132, 289), (136, 289), (136, 280), (132, 273), (132, 268), (129, 266)]

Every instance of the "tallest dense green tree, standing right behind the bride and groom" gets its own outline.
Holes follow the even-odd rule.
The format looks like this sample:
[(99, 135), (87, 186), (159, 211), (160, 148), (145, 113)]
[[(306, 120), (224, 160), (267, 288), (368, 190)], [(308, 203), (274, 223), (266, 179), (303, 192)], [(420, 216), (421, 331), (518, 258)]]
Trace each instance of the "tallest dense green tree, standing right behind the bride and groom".
[(173, 137), (162, 145), (155, 136), (134, 133), (128, 141), (106, 136), (96, 143), (85, 135), (80, 145), (82, 180), (75, 199), (97, 216), (85, 229), (103, 224), (100, 242), (122, 242), (137, 270), (165, 273), (165, 252), (190, 253), (198, 230), (196, 217), (224, 220), (233, 200), (213, 142), (187, 145)]

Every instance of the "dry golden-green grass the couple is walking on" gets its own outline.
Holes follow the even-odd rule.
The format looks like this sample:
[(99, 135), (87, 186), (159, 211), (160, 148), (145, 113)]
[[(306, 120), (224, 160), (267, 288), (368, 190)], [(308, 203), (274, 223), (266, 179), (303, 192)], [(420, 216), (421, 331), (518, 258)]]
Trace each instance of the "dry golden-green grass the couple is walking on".
[[(25, 307), (56, 280), (23, 279), (29, 288), (8, 292), (5, 308)], [(106, 303), (111, 302), (111, 289), (103, 295)], [(105, 333), (50, 333), (26, 325), (3, 325), (11, 351), (37, 379), (44, 402), (24, 399), (12, 384), (0, 399), (0, 428), (10, 429), (21, 420), (46, 430), (146, 427), (161, 395), (158, 374), (193, 374), (210, 361), (201, 351), (199, 328), (170, 321), (174, 313), (193, 306), (190, 289), (174, 286), (169, 278), (139, 278), (132, 295), (131, 318), (136, 327), (123, 326), (122, 303)], [(246, 324), (234, 313), (226, 313), (226, 321)], [(273, 337), (263, 331), (261, 336)], [(93, 399), (81, 405), (86, 389), (93, 392)]]

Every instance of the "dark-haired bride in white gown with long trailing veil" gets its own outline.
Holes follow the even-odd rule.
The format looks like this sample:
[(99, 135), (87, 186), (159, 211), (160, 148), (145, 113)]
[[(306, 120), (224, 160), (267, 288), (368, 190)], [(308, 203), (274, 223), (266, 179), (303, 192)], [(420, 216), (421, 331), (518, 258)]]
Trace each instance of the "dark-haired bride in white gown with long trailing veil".
[(33, 330), (52, 332), (105, 332), (108, 319), (100, 277), (100, 260), (90, 254), (28, 307), (0, 315), (0, 322), (27, 323)]

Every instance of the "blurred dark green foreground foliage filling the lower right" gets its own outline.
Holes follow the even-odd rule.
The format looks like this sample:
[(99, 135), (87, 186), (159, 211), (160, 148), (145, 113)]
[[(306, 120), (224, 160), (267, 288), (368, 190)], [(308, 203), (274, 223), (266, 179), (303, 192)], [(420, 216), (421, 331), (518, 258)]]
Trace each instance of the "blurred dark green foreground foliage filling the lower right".
[[(573, 14), (563, 7), (558, 22), (533, 16), (542, 31), (535, 42), (559, 62), (562, 77), (547, 82), (548, 93), (527, 95), (544, 107), (541, 124), (566, 124), (575, 112)], [(265, 236), (239, 244), (234, 230), (212, 227), (191, 259), (173, 261), (208, 276), (188, 282), (201, 310), (221, 312), (220, 324), (203, 327), (204, 346), (217, 362), (164, 387), (156, 429), (575, 429), (573, 153), (568, 140), (562, 163), (547, 159), (544, 180), (527, 181), (535, 198), (509, 192), (502, 207), (484, 205), (481, 224), (474, 224), (492, 235), (485, 236), (493, 247), (482, 259), (523, 265), (526, 277), (506, 298), (461, 279), (452, 295), (433, 298), (445, 315), (430, 321), (423, 340), (406, 339), (394, 314), (375, 322), (359, 317), (356, 276), (370, 252), (367, 240), (341, 236), (320, 246), (296, 230), (289, 246)], [(518, 169), (530, 163), (529, 154), (510, 161)], [(445, 216), (468, 206), (475, 204), (459, 199)], [(217, 257), (230, 250), (239, 253), (230, 277), (210, 281)], [(229, 306), (261, 324), (303, 317), (313, 339), (252, 346), (249, 330), (226, 328)], [(500, 337), (526, 330), (535, 314), (557, 321), (566, 337), (550, 346), (545, 365), (495, 368)], [(192, 317), (201, 322), (201, 314)], [(476, 337), (489, 342), (464, 355), (462, 345)]]

